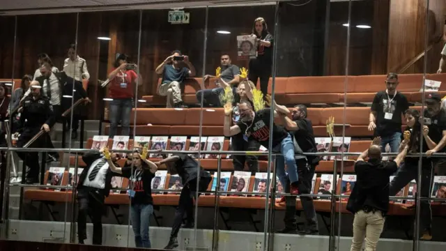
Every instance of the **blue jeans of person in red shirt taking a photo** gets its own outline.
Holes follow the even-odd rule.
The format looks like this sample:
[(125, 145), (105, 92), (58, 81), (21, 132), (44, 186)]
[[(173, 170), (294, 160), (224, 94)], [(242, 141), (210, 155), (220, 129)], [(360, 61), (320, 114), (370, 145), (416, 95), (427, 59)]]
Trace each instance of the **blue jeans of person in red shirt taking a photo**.
[(111, 139), (116, 135), (119, 121), (121, 121), (121, 126), (123, 128), (121, 135), (130, 135), (130, 112), (132, 112), (132, 107), (132, 98), (114, 99), (109, 101), (109, 137)]

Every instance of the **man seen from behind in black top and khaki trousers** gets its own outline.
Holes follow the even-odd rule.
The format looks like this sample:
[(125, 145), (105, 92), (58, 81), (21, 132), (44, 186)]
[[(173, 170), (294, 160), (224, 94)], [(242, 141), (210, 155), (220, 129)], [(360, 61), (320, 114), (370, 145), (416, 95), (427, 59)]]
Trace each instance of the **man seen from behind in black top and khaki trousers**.
[[(385, 213), (389, 208), (389, 178), (397, 171), (407, 154), (408, 145), (391, 161), (381, 160), (380, 138), (372, 142), (369, 149), (361, 153), (355, 163), (356, 183), (346, 209), (355, 215), (351, 251), (360, 251), (365, 238), (365, 250), (376, 250), (383, 231)], [(365, 158), (369, 157), (368, 161)]]

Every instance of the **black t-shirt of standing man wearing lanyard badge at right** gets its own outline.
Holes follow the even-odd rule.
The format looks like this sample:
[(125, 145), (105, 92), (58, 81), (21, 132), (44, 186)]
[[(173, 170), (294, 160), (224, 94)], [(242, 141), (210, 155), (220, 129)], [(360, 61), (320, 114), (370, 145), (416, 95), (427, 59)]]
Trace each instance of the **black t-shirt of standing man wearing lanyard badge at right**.
[(374, 137), (393, 135), (401, 132), (401, 115), (409, 108), (406, 96), (399, 91), (387, 96), (385, 91), (376, 93), (371, 111), (376, 112), (376, 129)]

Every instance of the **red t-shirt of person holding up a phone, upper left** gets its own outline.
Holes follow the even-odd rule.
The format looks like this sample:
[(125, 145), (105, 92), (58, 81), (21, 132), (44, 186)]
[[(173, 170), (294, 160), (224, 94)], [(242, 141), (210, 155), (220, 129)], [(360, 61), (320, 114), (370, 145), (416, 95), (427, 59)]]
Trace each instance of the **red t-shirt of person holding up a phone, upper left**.
[(109, 97), (133, 98), (133, 85), (135, 84), (136, 79), (137, 73), (133, 70), (119, 71), (116, 77), (110, 81)]

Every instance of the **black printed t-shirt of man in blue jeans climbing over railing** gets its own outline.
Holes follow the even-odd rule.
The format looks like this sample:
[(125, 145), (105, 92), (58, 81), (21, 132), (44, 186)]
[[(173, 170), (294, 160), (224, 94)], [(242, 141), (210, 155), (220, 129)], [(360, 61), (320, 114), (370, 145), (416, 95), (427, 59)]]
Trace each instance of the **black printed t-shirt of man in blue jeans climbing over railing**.
[[(237, 126), (240, 128), (243, 137), (255, 139), (262, 146), (268, 149), (270, 140), (270, 120), (271, 109), (261, 109), (256, 112), (254, 119), (249, 122), (238, 121)], [(282, 126), (272, 126), (272, 148), (280, 144), (284, 138), (288, 136), (288, 132)]]

